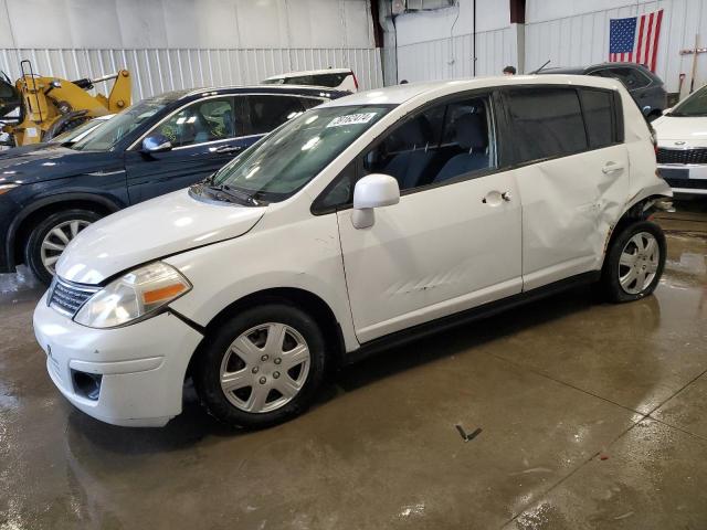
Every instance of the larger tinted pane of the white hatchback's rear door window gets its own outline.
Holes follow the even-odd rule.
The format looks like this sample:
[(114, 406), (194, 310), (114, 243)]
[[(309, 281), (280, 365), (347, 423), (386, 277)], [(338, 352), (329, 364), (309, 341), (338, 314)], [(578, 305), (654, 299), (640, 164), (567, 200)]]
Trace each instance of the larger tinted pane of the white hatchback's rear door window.
[(545, 87), (511, 89), (506, 102), (517, 163), (587, 150), (577, 91)]

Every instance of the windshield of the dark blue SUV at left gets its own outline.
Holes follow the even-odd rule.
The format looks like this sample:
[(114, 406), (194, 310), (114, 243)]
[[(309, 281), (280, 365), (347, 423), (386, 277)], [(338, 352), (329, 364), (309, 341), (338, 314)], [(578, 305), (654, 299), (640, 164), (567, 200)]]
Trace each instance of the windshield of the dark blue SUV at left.
[(147, 119), (162, 110), (172, 103), (172, 97), (159, 96), (143, 99), (140, 103), (126, 108), (120, 114), (110, 118), (102, 127), (86, 135), (71, 146), (77, 151), (109, 151), (126, 135), (130, 134)]

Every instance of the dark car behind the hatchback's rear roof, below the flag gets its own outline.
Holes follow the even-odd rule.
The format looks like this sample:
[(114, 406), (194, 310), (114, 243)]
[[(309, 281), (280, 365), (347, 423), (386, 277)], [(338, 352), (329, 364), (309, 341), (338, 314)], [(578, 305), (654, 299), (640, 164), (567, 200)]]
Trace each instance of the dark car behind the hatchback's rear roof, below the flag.
[(661, 116), (663, 110), (667, 108), (667, 92), (663, 86), (663, 80), (642, 64), (602, 63), (572, 68), (545, 68), (538, 73), (598, 75), (619, 80), (624, 84), (643, 115), (650, 120)]

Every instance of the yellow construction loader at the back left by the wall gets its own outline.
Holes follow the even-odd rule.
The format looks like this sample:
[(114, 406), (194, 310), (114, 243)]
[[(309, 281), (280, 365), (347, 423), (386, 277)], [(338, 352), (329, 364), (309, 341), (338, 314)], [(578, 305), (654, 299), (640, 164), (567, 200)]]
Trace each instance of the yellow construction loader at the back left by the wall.
[[(9, 135), (6, 145), (48, 141), (87, 119), (116, 114), (130, 105), (130, 74), (126, 70), (96, 80), (66, 81), (35, 75), (25, 60), (20, 71), (22, 76), (14, 85), (4, 73), (0, 77), (1, 130)], [(88, 92), (96, 83), (112, 80), (115, 82), (107, 97)], [(17, 109), (18, 116), (10, 118)]]

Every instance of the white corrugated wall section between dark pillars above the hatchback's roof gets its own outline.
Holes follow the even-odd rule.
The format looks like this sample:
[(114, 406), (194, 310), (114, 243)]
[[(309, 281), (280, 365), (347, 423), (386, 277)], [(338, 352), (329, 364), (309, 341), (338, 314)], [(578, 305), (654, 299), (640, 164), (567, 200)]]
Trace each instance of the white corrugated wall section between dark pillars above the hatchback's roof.
[[(499, 75), (517, 64), (513, 26), (476, 34), (476, 75)], [(472, 34), (398, 46), (398, 77), (408, 81), (447, 80), (472, 76)]]

